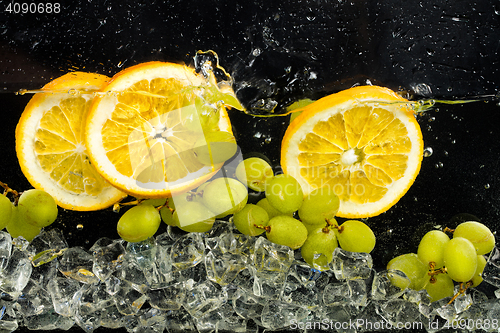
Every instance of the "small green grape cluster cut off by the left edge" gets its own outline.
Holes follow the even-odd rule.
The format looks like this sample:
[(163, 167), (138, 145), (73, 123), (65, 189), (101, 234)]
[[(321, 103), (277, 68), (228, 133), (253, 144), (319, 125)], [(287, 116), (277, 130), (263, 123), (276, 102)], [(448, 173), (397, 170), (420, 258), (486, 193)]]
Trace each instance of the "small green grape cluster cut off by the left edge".
[(32, 189), (19, 196), (16, 191), (8, 190), (14, 193), (15, 200), (12, 202), (7, 195), (0, 195), (0, 230), (7, 228), (12, 238), (22, 236), (31, 241), (42, 228), (56, 220), (57, 204), (47, 192)]

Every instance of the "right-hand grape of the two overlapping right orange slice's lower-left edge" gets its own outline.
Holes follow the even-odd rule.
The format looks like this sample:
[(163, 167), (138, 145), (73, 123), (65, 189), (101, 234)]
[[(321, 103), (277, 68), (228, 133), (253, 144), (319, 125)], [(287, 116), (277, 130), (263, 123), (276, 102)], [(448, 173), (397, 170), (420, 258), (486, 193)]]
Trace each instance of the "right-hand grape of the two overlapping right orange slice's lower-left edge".
[(315, 189), (307, 195), (299, 208), (302, 222), (312, 225), (326, 224), (339, 210), (339, 197), (328, 186)]

